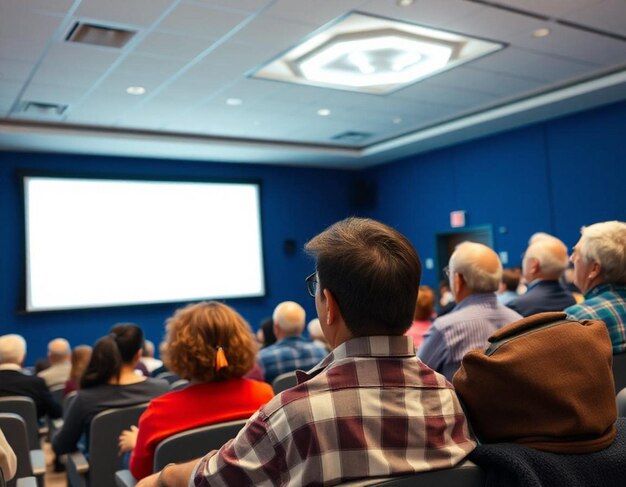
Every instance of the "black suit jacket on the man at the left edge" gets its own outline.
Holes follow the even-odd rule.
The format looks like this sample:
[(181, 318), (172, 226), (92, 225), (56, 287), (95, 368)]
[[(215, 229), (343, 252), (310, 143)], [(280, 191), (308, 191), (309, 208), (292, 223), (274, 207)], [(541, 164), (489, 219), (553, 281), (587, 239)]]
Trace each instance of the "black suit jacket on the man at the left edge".
[(17, 370), (0, 370), (0, 396), (28, 396), (35, 401), (37, 417), (61, 417), (61, 405), (50, 394), (46, 382)]

